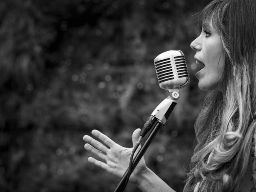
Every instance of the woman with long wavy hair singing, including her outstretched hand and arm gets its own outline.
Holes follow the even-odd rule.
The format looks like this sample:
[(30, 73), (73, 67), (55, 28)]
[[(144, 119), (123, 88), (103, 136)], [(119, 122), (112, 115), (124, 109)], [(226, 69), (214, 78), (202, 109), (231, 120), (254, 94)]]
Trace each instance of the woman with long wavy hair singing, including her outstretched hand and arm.
[[(195, 124), (197, 145), (183, 191), (256, 191), (256, 0), (214, 0), (201, 12), (199, 25), (201, 34), (190, 46), (196, 63), (204, 66), (196, 78), (208, 96)], [(139, 132), (133, 133), (134, 144)], [(86, 150), (102, 159), (88, 161), (121, 177), (132, 149), (97, 130), (92, 134), (108, 147), (84, 136)], [(144, 192), (174, 191), (146, 167), (144, 159), (130, 182)]]

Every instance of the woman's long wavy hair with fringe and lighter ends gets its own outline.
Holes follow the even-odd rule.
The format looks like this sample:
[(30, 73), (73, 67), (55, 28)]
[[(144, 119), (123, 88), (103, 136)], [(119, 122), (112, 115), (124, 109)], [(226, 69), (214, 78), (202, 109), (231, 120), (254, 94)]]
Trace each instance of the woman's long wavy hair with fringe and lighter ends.
[(222, 83), (208, 93), (195, 124), (197, 144), (183, 192), (236, 192), (249, 162), (256, 126), (256, 0), (214, 0), (202, 10), (220, 34)]

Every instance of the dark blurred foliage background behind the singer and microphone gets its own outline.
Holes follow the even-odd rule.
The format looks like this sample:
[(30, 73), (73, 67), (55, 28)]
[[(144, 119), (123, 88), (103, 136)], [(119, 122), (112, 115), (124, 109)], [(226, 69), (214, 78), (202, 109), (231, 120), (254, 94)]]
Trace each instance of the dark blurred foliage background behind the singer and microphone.
[(132, 147), (132, 132), (168, 96), (153, 60), (173, 49), (186, 56), (190, 84), (145, 158), (181, 191), (204, 98), (190, 42), (208, 2), (1, 0), (0, 191), (113, 191), (119, 179), (87, 162), (82, 137), (98, 129)]

